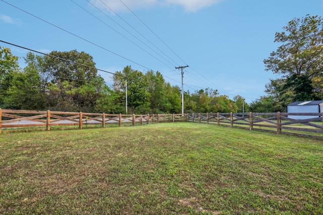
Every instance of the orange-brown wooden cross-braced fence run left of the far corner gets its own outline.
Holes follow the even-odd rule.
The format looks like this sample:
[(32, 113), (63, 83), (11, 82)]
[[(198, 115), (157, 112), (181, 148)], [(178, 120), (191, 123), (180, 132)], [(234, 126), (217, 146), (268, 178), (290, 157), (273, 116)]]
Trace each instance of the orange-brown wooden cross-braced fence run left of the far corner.
[(2, 131), (19, 130), (19, 128), (46, 129), (51, 127), (102, 126), (106, 125), (142, 125), (154, 122), (187, 121), (182, 114), (105, 114), (61, 111), (32, 111), (0, 109), (0, 133)]

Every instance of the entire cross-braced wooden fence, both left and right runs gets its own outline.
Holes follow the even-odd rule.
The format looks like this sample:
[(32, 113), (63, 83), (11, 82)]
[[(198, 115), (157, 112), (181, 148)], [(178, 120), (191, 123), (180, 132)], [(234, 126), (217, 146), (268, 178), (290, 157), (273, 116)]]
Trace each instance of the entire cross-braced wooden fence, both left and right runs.
[[(0, 115), (0, 133), (5, 130), (19, 131), (21, 128), (50, 130), (52, 127), (64, 129), (74, 126), (82, 129), (83, 127), (134, 126), (159, 122), (198, 122), (319, 138), (323, 134), (322, 113), (250, 112), (135, 115), (0, 109)], [(299, 116), (301, 119), (297, 119)]]

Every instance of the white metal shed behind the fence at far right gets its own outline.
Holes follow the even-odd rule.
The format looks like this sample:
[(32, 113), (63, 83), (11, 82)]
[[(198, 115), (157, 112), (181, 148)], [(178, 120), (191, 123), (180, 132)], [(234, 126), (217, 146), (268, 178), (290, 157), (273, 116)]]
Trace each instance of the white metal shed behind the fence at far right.
[[(293, 102), (287, 105), (288, 113), (321, 113), (323, 112), (323, 100), (306, 101), (306, 102)], [(298, 116), (289, 115), (292, 119), (309, 119), (318, 116)]]

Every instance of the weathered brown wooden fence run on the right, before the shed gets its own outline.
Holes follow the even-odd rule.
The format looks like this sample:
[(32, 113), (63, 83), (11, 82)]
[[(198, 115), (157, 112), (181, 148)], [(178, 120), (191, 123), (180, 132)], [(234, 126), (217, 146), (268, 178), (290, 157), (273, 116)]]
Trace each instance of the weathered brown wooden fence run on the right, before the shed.
[[(323, 113), (198, 113), (188, 114), (188, 121), (227, 125), (249, 130), (276, 132), (321, 138)], [(293, 116), (308, 116), (294, 119)], [(306, 117), (304, 117), (306, 118)], [(320, 133), (320, 135), (318, 135)]]

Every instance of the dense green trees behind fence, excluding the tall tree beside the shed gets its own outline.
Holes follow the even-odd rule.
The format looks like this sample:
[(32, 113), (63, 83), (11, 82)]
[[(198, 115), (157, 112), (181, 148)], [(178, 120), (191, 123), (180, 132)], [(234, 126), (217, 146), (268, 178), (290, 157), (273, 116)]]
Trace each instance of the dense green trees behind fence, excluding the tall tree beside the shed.
[[(126, 66), (116, 71), (111, 89), (97, 74), (89, 54), (72, 50), (49, 55), (30, 52), (21, 69), (18, 57), (9, 48), (0, 47), (0, 108), (126, 113), (127, 81), (128, 113), (181, 112), (180, 88), (165, 82), (158, 71), (143, 74)], [(201, 89), (184, 93), (184, 110), (247, 112), (248, 105), (241, 96), (233, 101), (217, 90)]]

